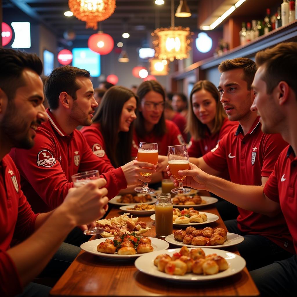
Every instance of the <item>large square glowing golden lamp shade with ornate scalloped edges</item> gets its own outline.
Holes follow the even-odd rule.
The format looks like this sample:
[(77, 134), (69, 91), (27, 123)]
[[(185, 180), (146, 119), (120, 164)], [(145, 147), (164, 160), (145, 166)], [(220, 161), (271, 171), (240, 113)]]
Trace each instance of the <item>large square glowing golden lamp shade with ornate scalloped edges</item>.
[(155, 36), (153, 44), (155, 45), (158, 59), (173, 61), (182, 60), (189, 56), (191, 50), (190, 28), (170, 27), (158, 28), (151, 35)]

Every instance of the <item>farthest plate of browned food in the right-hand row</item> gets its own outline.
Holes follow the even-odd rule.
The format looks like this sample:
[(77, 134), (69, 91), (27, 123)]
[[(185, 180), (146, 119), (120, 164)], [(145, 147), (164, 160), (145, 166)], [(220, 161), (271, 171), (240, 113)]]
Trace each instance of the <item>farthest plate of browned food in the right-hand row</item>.
[(174, 207), (203, 207), (218, 202), (217, 198), (199, 195), (176, 195), (171, 198)]

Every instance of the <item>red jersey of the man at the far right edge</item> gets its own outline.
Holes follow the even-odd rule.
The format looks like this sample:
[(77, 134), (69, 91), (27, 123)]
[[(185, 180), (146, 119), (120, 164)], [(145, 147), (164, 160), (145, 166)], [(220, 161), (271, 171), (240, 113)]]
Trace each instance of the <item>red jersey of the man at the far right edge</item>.
[(291, 146), (279, 155), (264, 186), (265, 195), (280, 203), (297, 253), (297, 157)]

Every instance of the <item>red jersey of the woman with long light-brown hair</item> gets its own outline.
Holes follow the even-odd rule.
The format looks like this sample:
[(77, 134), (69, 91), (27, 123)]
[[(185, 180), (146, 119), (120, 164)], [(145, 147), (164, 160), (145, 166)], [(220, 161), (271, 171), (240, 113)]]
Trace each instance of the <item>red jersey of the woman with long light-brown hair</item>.
[(191, 137), (188, 146), (189, 157), (199, 158), (208, 153), (234, 126), (238, 127), (238, 121), (231, 122), (228, 118), (225, 118), (218, 133), (211, 135), (206, 131), (205, 137), (200, 140), (194, 140), (194, 138)]

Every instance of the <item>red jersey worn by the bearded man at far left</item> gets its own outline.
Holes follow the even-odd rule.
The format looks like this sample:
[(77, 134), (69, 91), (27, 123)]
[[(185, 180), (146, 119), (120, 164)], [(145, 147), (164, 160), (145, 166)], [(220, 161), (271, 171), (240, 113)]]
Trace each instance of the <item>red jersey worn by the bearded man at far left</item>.
[(33, 213), (20, 189), (20, 175), (8, 155), (0, 162), (0, 169), (0, 295), (14, 296), (22, 291), (22, 285), (6, 251), (12, 238), (22, 241), (34, 232), (38, 214)]

